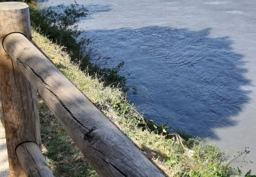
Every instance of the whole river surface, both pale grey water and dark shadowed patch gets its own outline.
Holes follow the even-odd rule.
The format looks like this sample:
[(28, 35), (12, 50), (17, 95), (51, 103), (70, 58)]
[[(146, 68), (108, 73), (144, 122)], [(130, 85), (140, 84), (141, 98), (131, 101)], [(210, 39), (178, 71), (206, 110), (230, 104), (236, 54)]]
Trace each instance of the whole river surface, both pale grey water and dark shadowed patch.
[[(256, 1), (77, 2), (89, 10), (79, 27), (110, 57), (104, 66), (124, 61), (120, 74), (140, 112), (229, 155), (249, 147), (236, 165), (256, 173)], [(72, 1), (39, 5), (61, 3)]]

